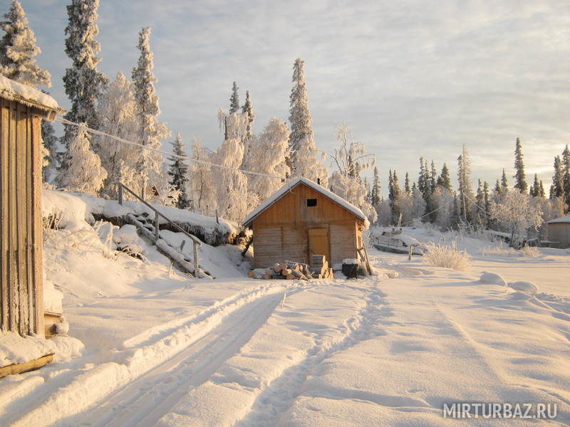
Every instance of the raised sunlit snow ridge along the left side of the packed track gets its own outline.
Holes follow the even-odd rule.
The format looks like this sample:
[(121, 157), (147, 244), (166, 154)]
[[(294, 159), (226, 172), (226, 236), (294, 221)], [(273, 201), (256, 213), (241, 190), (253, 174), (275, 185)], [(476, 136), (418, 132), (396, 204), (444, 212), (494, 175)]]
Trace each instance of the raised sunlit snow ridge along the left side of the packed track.
[(53, 392), (50, 381), (46, 381), (33, 392), (33, 407), (30, 407), (28, 400), (27, 412), (24, 415), (12, 413), (11, 416), (3, 417), (1, 424), (47, 426), (62, 418), (81, 413), (150, 369), (175, 357), (177, 353), (211, 332), (225, 317), (243, 305), (266, 295), (281, 295), (284, 291), (291, 292), (304, 288), (306, 285), (295, 281), (286, 284), (267, 283), (239, 292), (209, 307), (169, 334), (160, 334), (154, 342), (144, 347), (119, 352), (115, 355), (117, 357), (115, 360), (119, 362), (103, 362), (91, 369), (78, 369), (78, 375), (66, 384), (59, 384), (56, 392)]

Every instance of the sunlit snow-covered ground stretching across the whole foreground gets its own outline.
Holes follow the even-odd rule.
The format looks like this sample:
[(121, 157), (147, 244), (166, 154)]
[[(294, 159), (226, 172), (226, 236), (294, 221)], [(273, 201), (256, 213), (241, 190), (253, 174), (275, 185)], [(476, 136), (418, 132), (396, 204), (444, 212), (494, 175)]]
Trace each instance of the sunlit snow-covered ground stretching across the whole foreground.
[[(98, 238), (58, 240), (69, 232), (48, 236), (46, 279), (85, 349), (0, 379), (0, 425), (570, 424), (569, 251), (522, 257), (406, 228), (423, 243), (455, 241), (470, 268), (371, 248), (375, 277), (252, 280), (236, 248), (204, 245), (217, 279), (196, 280), (152, 246), (145, 261), (110, 256)], [(442, 418), (456, 401), (551, 403), (558, 415)]]

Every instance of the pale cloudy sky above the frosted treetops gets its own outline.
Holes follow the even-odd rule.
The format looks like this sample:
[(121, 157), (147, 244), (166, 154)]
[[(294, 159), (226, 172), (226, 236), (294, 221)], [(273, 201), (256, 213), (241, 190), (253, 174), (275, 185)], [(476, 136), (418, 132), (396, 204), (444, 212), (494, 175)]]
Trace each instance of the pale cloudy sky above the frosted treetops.
[[(68, 2), (21, 4), (66, 108)], [(455, 178), (462, 144), (474, 181), (494, 183), (503, 167), (512, 176), (517, 137), (527, 181), (537, 173), (548, 189), (553, 158), (570, 143), (570, 1), (101, 0), (98, 25), (110, 78), (130, 75), (138, 31), (152, 27), (159, 118), (187, 147), (194, 137), (210, 149), (222, 142), (217, 110), (229, 107), (234, 80), (242, 104), (252, 95), (254, 132), (271, 117), (287, 121), (298, 57), (318, 147), (331, 154), (335, 127), (349, 125), (375, 154), (383, 194), (388, 169), (417, 179), (420, 156), (438, 170), (447, 162)]]

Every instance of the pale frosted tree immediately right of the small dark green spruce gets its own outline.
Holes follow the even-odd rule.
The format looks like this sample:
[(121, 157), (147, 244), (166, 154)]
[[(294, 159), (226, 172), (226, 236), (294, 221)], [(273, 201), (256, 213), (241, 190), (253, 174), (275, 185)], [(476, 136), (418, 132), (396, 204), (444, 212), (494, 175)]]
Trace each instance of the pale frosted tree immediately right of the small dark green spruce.
[(217, 193), (214, 184), (214, 173), (219, 174), (219, 169), (212, 172), (212, 167), (203, 162), (211, 162), (211, 156), (202, 145), (199, 138), (194, 139), (192, 144), (192, 159), (190, 162), (190, 196), (192, 198), (192, 210), (199, 214), (212, 216), (217, 209)]

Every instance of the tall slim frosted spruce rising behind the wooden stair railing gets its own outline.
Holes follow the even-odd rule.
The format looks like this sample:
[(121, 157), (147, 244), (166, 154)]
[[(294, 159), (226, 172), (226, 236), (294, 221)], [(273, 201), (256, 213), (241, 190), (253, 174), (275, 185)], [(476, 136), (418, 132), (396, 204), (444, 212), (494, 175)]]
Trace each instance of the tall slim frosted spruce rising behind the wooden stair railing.
[[(135, 68), (133, 68), (133, 85), (135, 88), (135, 116), (138, 121), (138, 142), (145, 147), (160, 148), (162, 139), (170, 136), (170, 131), (165, 123), (159, 122), (157, 116), (160, 115), (158, 96), (155, 91), (155, 77), (152, 69), (152, 51), (150, 50), (150, 27), (140, 30), (138, 38), (138, 50), (140, 57)], [(135, 166), (138, 174), (138, 188), (135, 190), (144, 196), (147, 186), (156, 185), (163, 173), (162, 164), (164, 159), (162, 154), (152, 152), (149, 149), (139, 149), (139, 158)]]

